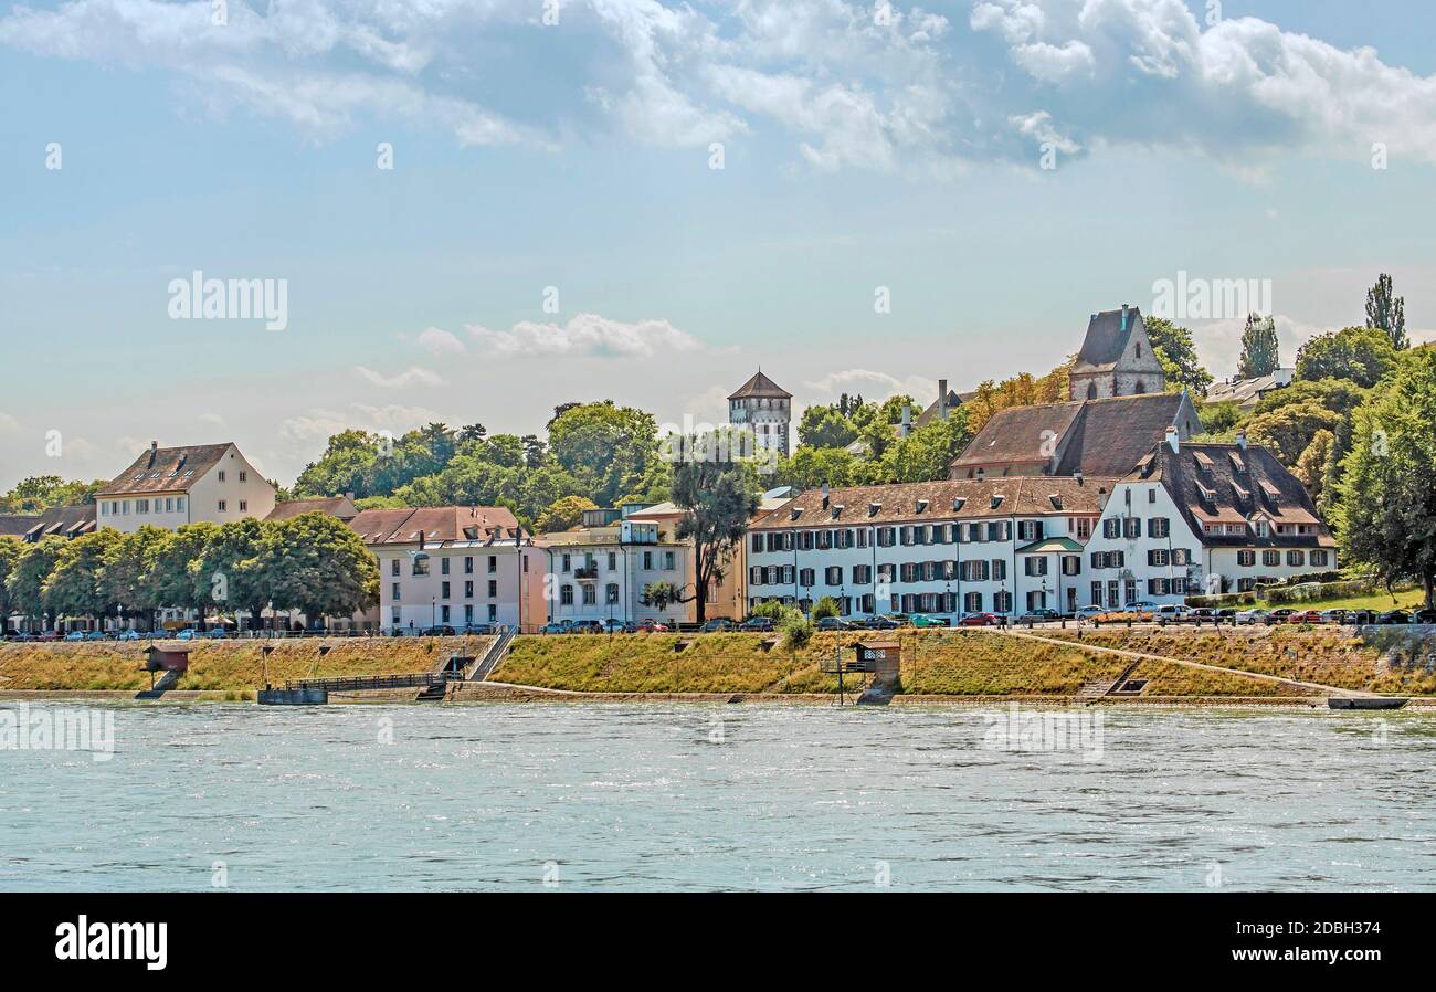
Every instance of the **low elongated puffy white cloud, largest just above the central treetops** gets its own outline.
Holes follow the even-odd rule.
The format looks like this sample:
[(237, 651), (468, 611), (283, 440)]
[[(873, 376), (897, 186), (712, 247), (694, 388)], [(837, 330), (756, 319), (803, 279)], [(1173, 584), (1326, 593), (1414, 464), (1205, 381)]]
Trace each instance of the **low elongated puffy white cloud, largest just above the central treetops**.
[(520, 322), (508, 330), (471, 324), (468, 332), (481, 349), (503, 356), (662, 357), (696, 352), (696, 337), (666, 320), (623, 323), (596, 313), (580, 313), (566, 324)]

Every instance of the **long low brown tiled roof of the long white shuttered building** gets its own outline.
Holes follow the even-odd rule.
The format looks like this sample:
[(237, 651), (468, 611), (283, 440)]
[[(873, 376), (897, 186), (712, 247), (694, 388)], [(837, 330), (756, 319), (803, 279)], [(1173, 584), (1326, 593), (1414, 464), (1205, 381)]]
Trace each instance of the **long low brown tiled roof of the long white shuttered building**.
[[(823, 491), (808, 490), (758, 517), (750, 530), (790, 527), (854, 527), (862, 524), (922, 524), (932, 520), (969, 520), (1041, 514), (1074, 517), (1101, 513), (1117, 478), (1048, 478), (1012, 475), (988, 479), (850, 485), (831, 490), (827, 508)], [(1055, 498), (1055, 501), (1054, 501)], [(925, 505), (919, 510), (919, 502)], [(839, 510), (834, 517), (833, 511)], [(798, 511), (797, 518), (793, 513)]]

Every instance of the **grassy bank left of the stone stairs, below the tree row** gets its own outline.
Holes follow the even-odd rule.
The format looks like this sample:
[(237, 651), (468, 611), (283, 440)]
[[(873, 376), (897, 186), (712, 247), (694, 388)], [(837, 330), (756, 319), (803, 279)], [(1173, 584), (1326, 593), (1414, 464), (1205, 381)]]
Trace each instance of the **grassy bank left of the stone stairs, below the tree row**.
[[(178, 642), (161, 642), (181, 646)], [(218, 640), (188, 645), (190, 670), (174, 689), (251, 698), (266, 682), (348, 675), (426, 672), (455, 650), (480, 655), (487, 637), (336, 637), (333, 640)], [(266, 660), (263, 647), (273, 650)], [(148, 689), (148, 645), (0, 645), (0, 691)], [(158, 676), (157, 676), (158, 678)]]

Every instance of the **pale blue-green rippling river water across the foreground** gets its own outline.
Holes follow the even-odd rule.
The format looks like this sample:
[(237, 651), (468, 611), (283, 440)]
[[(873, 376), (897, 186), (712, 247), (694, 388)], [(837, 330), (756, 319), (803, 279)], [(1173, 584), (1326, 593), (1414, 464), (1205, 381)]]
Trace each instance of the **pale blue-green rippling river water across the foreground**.
[(0, 741), (0, 890), (1436, 887), (1430, 715), (7, 712), (113, 749)]

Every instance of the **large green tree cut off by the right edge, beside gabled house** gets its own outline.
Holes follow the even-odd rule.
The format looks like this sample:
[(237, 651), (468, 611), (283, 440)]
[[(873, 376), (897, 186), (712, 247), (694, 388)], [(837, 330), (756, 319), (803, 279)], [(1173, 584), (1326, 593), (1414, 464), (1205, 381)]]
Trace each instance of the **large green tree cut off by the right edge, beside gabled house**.
[(1337, 535), (1348, 563), (1390, 587), (1422, 583), (1436, 607), (1436, 349), (1412, 360), (1356, 412), (1351, 452), (1338, 485)]

